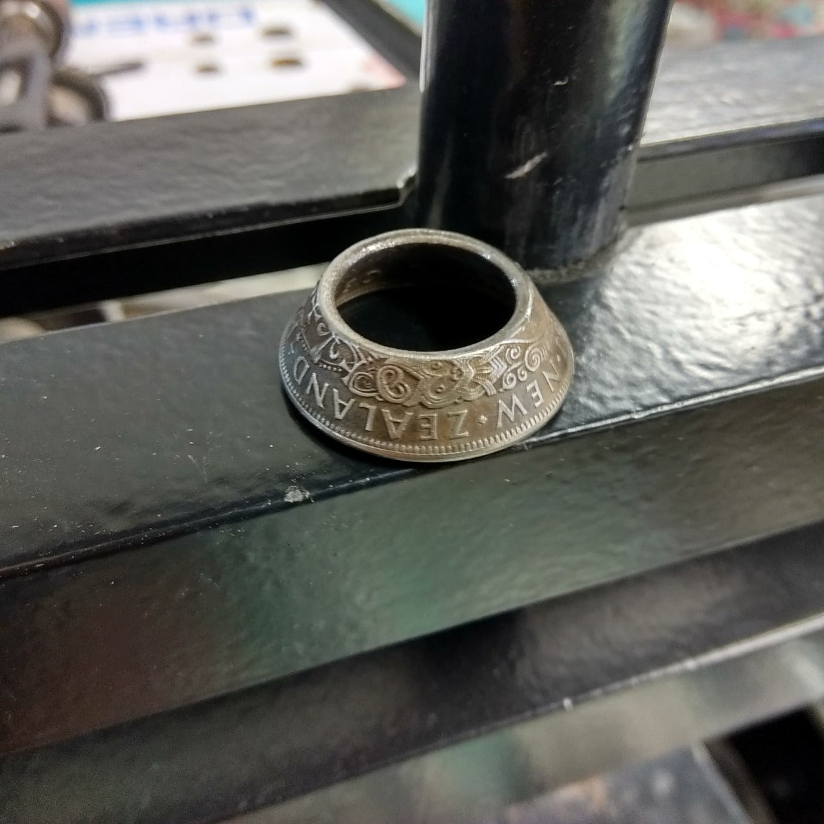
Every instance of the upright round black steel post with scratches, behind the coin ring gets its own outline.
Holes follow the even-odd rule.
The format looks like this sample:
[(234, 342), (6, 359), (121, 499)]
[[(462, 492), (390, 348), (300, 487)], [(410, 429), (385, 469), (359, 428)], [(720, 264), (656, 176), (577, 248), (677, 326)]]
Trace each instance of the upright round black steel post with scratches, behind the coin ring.
[(527, 269), (620, 231), (670, 0), (428, 0), (419, 222)]

